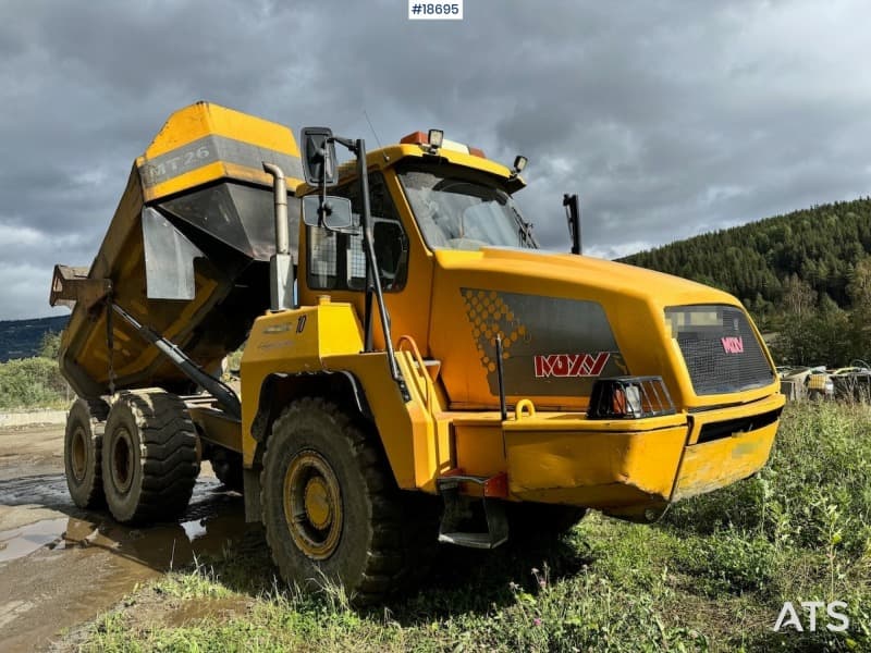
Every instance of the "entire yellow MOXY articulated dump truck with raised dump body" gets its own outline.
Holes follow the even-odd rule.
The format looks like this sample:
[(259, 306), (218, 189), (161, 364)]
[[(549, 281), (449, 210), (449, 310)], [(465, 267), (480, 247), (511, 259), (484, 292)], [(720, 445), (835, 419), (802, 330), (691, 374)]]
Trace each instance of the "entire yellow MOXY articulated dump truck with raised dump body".
[(54, 270), (75, 503), (173, 519), (209, 459), (287, 581), (366, 602), (437, 542), (653, 521), (760, 469), (784, 397), (741, 305), (578, 256), (568, 197), (575, 254), (539, 249), (525, 163), (174, 113), (90, 268)]

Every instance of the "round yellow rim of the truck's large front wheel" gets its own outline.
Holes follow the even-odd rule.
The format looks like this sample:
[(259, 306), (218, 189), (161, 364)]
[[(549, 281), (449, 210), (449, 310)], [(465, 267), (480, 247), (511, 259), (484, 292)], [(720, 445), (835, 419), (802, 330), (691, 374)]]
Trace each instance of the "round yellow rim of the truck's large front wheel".
[(287, 466), (284, 518), (294, 543), (309, 558), (333, 554), (342, 534), (342, 492), (332, 467), (317, 452), (300, 452)]

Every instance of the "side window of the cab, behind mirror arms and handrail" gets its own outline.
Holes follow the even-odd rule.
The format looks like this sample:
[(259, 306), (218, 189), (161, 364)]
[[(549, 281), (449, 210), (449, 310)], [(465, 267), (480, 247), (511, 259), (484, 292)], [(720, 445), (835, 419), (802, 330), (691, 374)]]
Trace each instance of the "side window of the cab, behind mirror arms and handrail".
[[(306, 227), (308, 286), (312, 289), (363, 291), (366, 288), (366, 255), (360, 227), (363, 201), (359, 183), (354, 180), (332, 188), (330, 194), (351, 200), (354, 224), (352, 229), (338, 233)], [(381, 287), (384, 292), (397, 292), (405, 287), (408, 278), (408, 238), (380, 173), (369, 175), (369, 195)]]

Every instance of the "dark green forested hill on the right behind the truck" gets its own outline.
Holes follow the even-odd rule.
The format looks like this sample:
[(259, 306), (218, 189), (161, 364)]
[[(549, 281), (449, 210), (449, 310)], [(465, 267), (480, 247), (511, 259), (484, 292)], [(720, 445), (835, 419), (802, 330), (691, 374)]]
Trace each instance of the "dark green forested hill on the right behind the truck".
[[(794, 211), (688, 238), (621, 259), (715, 285), (755, 312), (780, 305), (796, 275), (838, 306), (856, 262), (871, 254), (871, 197)], [(773, 305), (773, 306), (772, 306)]]

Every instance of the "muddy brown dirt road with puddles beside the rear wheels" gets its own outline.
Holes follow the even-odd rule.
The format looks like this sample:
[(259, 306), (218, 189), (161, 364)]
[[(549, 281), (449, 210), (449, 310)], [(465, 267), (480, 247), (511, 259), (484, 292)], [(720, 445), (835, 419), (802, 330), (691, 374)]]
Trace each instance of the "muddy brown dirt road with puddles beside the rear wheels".
[(242, 497), (208, 464), (181, 523), (131, 529), (76, 508), (63, 476), (63, 427), (0, 430), (0, 648), (46, 650), (136, 583), (244, 530)]

